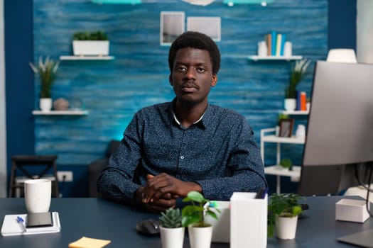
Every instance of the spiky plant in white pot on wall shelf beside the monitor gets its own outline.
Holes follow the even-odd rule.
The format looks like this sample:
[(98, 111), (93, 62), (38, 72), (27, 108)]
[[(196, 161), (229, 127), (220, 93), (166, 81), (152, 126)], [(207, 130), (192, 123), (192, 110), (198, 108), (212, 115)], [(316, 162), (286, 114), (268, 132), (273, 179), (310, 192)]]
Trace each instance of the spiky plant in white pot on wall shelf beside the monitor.
[(284, 107), (286, 111), (296, 110), (296, 87), (306, 74), (310, 60), (297, 60), (291, 63), (290, 78), (285, 90)]

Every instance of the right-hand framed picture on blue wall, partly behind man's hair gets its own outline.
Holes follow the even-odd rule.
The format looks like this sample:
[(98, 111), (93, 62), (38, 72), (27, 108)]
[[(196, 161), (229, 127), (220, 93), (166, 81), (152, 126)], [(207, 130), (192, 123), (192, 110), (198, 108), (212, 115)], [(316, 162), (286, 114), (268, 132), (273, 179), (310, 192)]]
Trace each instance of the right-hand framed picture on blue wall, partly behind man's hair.
[(187, 30), (197, 31), (210, 36), (212, 40), (221, 40), (221, 18), (220, 17), (197, 17), (187, 18)]

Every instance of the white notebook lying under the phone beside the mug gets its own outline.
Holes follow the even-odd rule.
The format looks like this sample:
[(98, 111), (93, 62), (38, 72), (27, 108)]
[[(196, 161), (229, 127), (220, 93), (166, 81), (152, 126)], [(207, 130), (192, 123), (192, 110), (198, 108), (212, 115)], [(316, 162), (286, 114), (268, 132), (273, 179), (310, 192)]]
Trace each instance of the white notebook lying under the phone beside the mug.
[(60, 217), (58, 212), (52, 212), (53, 226), (52, 227), (31, 227), (26, 228), (23, 223), (17, 222), (17, 217), (26, 220), (27, 215), (5, 215), (3, 225), (1, 226), (2, 236), (16, 236), (16, 235), (39, 235), (44, 233), (60, 232)]

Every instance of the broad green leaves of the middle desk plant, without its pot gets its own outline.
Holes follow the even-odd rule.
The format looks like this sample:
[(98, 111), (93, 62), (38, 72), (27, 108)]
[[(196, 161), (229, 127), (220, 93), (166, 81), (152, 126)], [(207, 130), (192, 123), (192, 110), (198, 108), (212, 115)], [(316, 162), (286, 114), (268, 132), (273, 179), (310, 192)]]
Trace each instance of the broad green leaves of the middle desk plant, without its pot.
[(205, 199), (198, 191), (190, 191), (183, 201), (192, 203), (192, 205), (185, 205), (181, 212), (183, 227), (188, 227), (188, 225), (208, 227), (210, 224), (205, 222), (208, 216), (217, 220), (216, 213), (220, 213), (220, 210), (216, 208), (216, 203)]

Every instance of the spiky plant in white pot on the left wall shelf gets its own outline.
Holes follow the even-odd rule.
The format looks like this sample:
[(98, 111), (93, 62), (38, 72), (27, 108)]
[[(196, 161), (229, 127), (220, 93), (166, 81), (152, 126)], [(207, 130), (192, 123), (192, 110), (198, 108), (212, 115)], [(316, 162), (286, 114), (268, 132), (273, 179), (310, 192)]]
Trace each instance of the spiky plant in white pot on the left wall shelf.
[(42, 56), (39, 57), (39, 62), (36, 65), (29, 63), (31, 69), (35, 74), (39, 75), (40, 79), (40, 99), (39, 106), (41, 111), (50, 111), (52, 109), (52, 94), (51, 89), (53, 81), (55, 80), (59, 61), (50, 60), (50, 57), (47, 56), (43, 61)]

